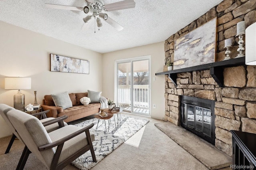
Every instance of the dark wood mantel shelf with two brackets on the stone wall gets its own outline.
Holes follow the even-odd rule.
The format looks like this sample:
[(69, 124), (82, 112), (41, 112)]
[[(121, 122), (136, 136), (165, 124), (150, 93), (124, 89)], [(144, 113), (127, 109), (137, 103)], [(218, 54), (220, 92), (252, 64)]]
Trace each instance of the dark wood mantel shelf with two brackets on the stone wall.
[(176, 69), (171, 71), (164, 71), (160, 73), (156, 73), (155, 75), (168, 75), (174, 85), (177, 86), (177, 73), (183, 72), (191, 72), (191, 71), (201, 71), (201, 70), (209, 70), (212, 78), (216, 81), (216, 83), (220, 87), (224, 87), (223, 82), (223, 70), (225, 67), (234, 67), (238, 65), (245, 65), (245, 57), (229, 59), (225, 61), (216, 61), (214, 63), (208, 63), (203, 65), (197, 65), (193, 67), (187, 67), (183, 69)]

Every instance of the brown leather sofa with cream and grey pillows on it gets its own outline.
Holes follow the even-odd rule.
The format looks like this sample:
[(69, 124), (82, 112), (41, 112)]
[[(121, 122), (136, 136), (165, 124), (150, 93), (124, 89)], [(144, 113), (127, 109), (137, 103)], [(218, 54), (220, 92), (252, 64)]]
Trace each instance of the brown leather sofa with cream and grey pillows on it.
[(82, 97), (87, 97), (88, 93), (70, 93), (69, 97), (72, 101), (72, 107), (67, 109), (62, 109), (61, 107), (56, 107), (51, 95), (45, 95), (43, 99), (43, 105), (41, 105), (42, 110), (50, 110), (46, 113), (47, 117), (61, 117), (62, 115), (67, 115), (68, 118), (65, 122), (71, 122), (83, 117), (87, 117), (96, 114), (100, 111), (100, 103), (90, 103), (89, 105), (82, 105), (80, 99)]

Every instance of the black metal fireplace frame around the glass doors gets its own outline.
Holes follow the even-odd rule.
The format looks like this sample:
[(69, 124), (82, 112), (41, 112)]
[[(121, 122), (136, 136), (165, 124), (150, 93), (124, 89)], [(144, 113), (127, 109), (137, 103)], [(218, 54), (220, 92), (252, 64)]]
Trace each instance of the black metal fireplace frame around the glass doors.
[[(203, 107), (203, 108), (211, 110), (211, 113), (212, 113), (211, 136), (208, 136), (207, 134), (204, 134), (203, 132), (200, 132), (196, 129), (190, 128), (186, 124), (183, 123), (183, 121), (184, 121), (184, 117), (183, 117), (183, 115), (184, 115), (184, 103), (186, 103), (188, 105), (195, 105), (195, 106), (199, 106), (199, 107)], [(180, 125), (181, 125), (181, 127), (183, 127), (186, 130), (196, 134), (197, 136), (206, 140), (207, 142), (215, 145), (215, 139), (216, 139), (215, 128), (216, 127), (215, 127), (214, 120), (215, 120), (216, 115), (214, 114), (214, 107), (215, 107), (215, 101), (213, 101), (213, 100), (182, 95), (181, 100), (180, 100)]]

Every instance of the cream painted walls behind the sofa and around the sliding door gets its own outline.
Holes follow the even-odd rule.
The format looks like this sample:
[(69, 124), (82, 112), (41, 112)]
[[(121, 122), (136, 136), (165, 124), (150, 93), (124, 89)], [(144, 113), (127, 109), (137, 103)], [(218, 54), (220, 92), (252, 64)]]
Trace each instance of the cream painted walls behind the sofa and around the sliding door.
[[(50, 53), (90, 61), (90, 74), (50, 71)], [(115, 60), (151, 55), (151, 117), (162, 119), (165, 111), (163, 71), (164, 42), (114, 51), (97, 53), (70, 43), (0, 21), (0, 103), (13, 107), (17, 90), (4, 89), (4, 77), (32, 77), (32, 89), (22, 90), (26, 105), (38, 104), (46, 94), (102, 91), (102, 96), (114, 99)], [(102, 57), (103, 56), (103, 57)], [(156, 77), (156, 81), (153, 78)], [(0, 116), (0, 138), (11, 134)]]

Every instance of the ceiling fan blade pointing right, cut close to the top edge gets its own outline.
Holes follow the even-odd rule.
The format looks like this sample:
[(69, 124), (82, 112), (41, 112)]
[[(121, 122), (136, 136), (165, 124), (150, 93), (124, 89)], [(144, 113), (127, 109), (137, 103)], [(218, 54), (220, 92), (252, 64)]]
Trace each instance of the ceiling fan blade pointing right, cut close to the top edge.
[(124, 10), (128, 8), (135, 8), (134, 0), (124, 0), (124, 1), (105, 5), (105, 9), (107, 11)]

